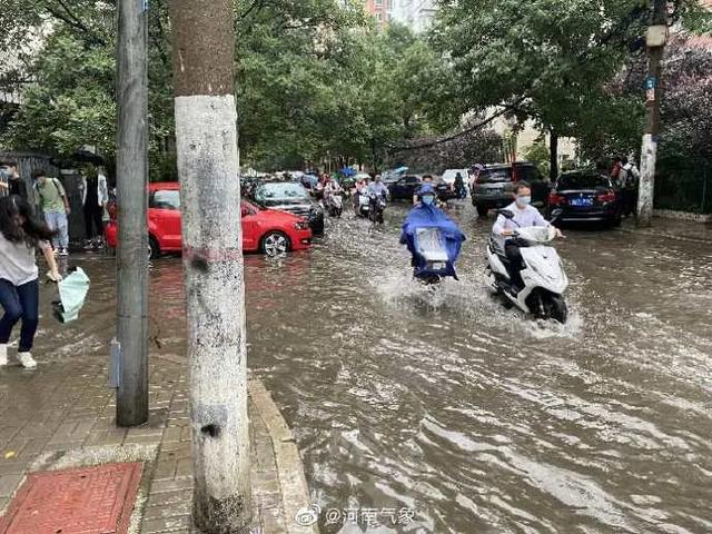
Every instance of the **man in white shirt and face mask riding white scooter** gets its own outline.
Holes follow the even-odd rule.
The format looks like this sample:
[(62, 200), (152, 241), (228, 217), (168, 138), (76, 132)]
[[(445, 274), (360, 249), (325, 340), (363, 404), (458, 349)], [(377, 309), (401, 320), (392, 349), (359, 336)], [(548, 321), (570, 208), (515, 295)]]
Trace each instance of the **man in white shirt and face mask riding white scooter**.
[[(504, 208), (514, 214), (514, 218), (507, 219), (503, 215), (497, 216), (492, 233), (498, 238), (500, 245), (504, 246), (504, 251), (510, 260), (512, 281), (518, 290), (524, 287), (522, 269), (524, 268), (520, 247), (526, 244), (514, 238), (514, 230), (532, 226), (552, 226), (538, 210), (532, 206), (532, 189), (525, 181), (520, 181), (514, 188), (514, 202)], [(556, 237), (563, 237), (556, 228)]]

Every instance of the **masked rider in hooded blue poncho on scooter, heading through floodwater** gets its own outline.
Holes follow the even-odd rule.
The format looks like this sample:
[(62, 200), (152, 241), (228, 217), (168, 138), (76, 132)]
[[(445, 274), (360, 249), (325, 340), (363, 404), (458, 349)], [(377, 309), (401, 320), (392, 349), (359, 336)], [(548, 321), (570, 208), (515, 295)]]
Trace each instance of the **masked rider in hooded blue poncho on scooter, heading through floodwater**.
[(457, 279), (455, 261), (465, 235), (443, 210), (435, 207), (436, 191), (425, 184), (417, 192), (421, 201), (408, 212), (403, 224), (400, 244), (413, 255), (413, 275), (432, 280), (445, 276)]

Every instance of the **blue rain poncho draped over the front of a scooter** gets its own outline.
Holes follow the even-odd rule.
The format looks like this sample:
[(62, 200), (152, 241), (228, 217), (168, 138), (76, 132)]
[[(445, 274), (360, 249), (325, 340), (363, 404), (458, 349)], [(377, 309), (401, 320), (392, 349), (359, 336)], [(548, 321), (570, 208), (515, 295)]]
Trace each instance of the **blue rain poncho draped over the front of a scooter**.
[[(434, 233), (423, 233), (419, 235), (425, 237), (429, 243), (418, 243), (418, 229), (434, 228), (439, 234), (439, 244), (433, 244)], [(455, 273), (455, 261), (459, 256), (462, 244), (465, 240), (465, 234), (443, 210), (435, 206), (425, 206), (423, 204), (411, 210), (403, 224), (403, 233), (400, 234), (400, 243), (407, 245), (408, 250), (413, 255), (414, 276), (416, 278), (428, 278), (433, 276), (452, 276), (457, 279)], [(425, 257), (419, 253), (423, 249), (443, 248), (447, 255), (444, 261), (445, 267), (441, 269), (429, 269)]]

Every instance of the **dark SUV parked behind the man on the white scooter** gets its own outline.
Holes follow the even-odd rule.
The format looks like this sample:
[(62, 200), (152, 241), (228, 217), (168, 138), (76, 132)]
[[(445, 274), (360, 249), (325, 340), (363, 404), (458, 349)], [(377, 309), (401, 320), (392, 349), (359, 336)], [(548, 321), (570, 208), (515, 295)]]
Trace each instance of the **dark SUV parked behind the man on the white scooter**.
[[(503, 208), (512, 202), (512, 194), (517, 181), (525, 180), (532, 186), (532, 204), (537, 208), (546, 206), (550, 182), (538, 168), (530, 162), (487, 165), (475, 170), (472, 181), (472, 204), (479, 217), (486, 217), (491, 209)], [(513, 169), (516, 169), (515, 171)]]

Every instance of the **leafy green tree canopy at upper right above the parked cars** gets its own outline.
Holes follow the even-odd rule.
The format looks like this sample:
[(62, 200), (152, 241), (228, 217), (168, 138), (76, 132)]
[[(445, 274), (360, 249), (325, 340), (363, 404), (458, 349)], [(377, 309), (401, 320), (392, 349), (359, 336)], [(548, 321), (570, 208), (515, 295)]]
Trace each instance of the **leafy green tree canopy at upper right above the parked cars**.
[(433, 41), (451, 59), (459, 111), (503, 107), (555, 147), (558, 136), (595, 136), (601, 113), (621, 120), (605, 85), (645, 16), (640, 0), (443, 2)]

